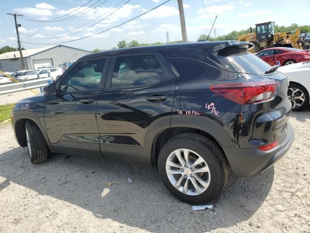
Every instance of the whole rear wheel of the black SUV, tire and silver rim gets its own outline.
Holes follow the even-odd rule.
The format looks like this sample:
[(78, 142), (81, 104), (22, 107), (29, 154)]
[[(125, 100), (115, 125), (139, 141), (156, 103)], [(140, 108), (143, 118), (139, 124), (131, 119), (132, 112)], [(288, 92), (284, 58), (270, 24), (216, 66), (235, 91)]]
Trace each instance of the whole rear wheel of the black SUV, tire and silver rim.
[(169, 140), (160, 151), (158, 171), (174, 196), (197, 205), (214, 200), (228, 179), (222, 151), (198, 133), (184, 133)]

